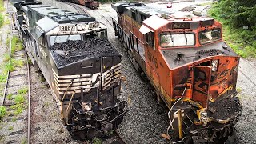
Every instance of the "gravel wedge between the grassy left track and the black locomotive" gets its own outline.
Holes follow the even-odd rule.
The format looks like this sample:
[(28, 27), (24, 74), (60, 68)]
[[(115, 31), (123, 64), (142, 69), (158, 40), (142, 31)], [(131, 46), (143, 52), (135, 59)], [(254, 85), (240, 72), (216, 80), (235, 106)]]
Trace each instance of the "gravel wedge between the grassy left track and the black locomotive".
[[(66, 127), (62, 125), (56, 102), (50, 94), (47, 82), (34, 66), (30, 66), (31, 85), (31, 143), (66, 143), (70, 141)], [(70, 142), (76, 143), (76, 142)]]

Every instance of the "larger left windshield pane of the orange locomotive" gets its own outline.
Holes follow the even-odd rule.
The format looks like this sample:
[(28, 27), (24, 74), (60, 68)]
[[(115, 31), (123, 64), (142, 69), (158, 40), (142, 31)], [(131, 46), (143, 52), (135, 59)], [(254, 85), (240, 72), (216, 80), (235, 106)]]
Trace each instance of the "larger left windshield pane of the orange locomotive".
[(194, 34), (183, 33), (183, 34), (161, 34), (160, 36), (160, 46), (170, 47), (170, 46), (194, 46), (195, 44)]

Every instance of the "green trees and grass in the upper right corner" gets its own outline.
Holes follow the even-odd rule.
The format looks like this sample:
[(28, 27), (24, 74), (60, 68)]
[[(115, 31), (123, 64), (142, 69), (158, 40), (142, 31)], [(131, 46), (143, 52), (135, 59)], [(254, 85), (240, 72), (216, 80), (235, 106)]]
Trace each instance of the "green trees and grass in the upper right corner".
[(223, 38), (236, 53), (256, 58), (256, 1), (222, 0), (214, 3), (209, 14), (222, 22)]

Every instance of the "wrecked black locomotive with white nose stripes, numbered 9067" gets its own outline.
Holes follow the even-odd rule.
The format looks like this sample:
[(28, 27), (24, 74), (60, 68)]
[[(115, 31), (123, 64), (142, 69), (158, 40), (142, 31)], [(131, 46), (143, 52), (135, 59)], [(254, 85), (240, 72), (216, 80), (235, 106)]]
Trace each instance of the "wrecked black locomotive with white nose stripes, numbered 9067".
[(101, 137), (117, 127), (126, 114), (119, 97), (121, 55), (106, 39), (106, 26), (34, 0), (12, 3), (27, 53), (49, 83), (73, 138)]

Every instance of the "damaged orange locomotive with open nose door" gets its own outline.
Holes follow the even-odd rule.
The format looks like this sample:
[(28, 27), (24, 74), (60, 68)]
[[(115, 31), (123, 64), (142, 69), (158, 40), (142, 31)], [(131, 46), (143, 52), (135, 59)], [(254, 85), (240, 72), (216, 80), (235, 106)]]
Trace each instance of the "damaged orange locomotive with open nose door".
[(142, 3), (112, 4), (114, 30), (142, 78), (169, 108), (166, 138), (183, 143), (234, 141), (242, 112), (239, 57), (213, 18), (170, 13)]

